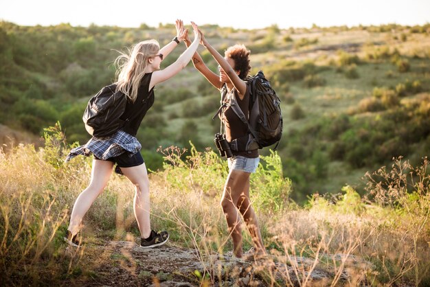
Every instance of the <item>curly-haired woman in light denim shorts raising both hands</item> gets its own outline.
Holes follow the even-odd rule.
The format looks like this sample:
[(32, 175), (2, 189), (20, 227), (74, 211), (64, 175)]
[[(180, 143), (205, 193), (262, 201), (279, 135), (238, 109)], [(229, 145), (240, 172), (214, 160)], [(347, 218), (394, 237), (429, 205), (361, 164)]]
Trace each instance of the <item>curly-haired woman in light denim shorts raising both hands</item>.
[[(220, 109), (219, 117), (222, 122), (221, 125), (225, 125), (225, 138), (231, 144), (249, 135), (247, 124), (242, 122), (231, 108), (231, 98), (235, 97), (243, 114), (249, 115), (249, 85), (245, 78), (251, 69), (249, 65), (250, 51), (245, 45), (234, 45), (227, 48), (223, 57), (207, 42), (202, 32), (201, 34), (201, 44), (210, 51), (210, 54), (218, 62), (219, 75), (205, 65), (197, 52), (193, 56), (193, 64), (206, 80), (221, 93), (223, 106)], [(191, 45), (190, 38), (187, 36), (185, 36), (184, 41), (185, 45)], [(229, 174), (224, 185), (220, 205), (223, 208), (229, 233), (233, 240), (233, 254), (238, 258), (243, 256), (240, 225), (240, 215), (242, 215), (255, 246), (252, 255), (265, 255), (266, 251), (257, 216), (249, 199), (249, 176), (256, 172), (260, 161), (258, 146), (255, 145), (251, 150), (240, 150), (240, 148), (234, 150), (231, 148), (231, 152), (233, 155), (228, 158)]]

